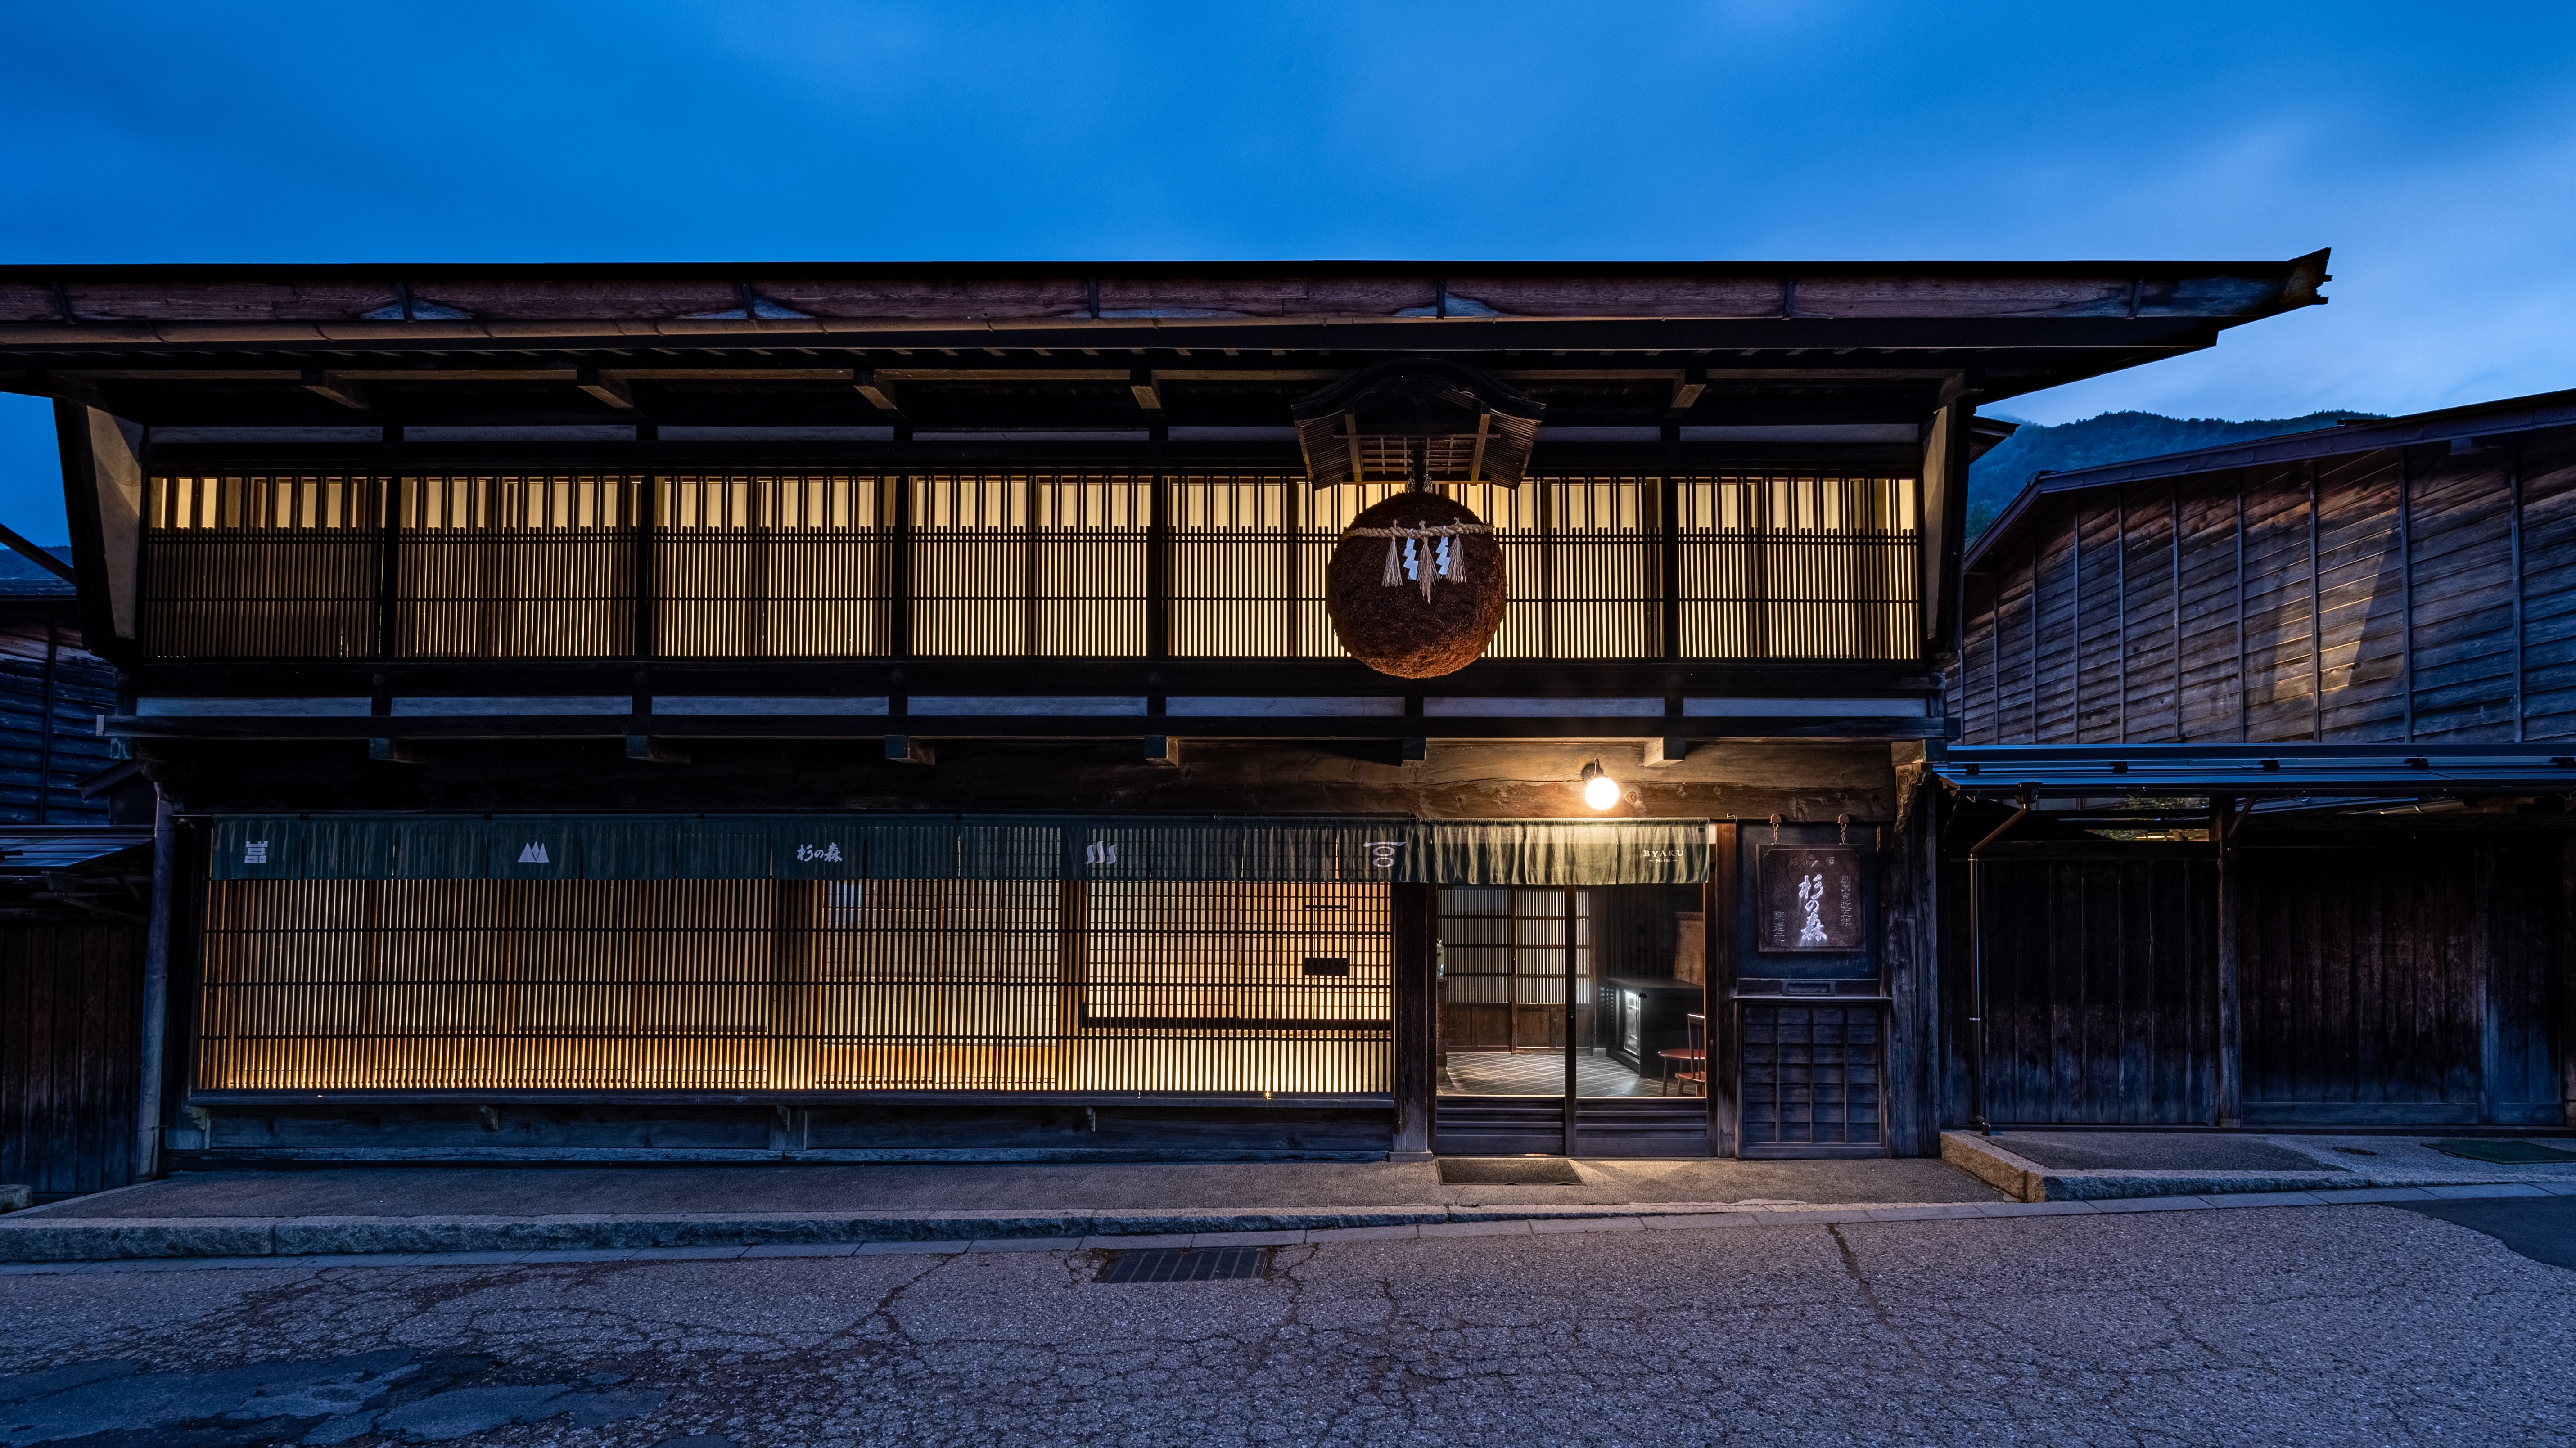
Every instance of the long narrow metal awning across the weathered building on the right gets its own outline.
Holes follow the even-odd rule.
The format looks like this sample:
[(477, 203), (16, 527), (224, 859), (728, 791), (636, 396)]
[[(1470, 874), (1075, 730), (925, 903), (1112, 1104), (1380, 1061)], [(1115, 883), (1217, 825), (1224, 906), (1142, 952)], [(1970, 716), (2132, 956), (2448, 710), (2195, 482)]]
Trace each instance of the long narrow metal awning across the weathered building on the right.
[(2555, 745), (1950, 745), (1932, 773), (2012, 796), (2576, 794), (2576, 739)]

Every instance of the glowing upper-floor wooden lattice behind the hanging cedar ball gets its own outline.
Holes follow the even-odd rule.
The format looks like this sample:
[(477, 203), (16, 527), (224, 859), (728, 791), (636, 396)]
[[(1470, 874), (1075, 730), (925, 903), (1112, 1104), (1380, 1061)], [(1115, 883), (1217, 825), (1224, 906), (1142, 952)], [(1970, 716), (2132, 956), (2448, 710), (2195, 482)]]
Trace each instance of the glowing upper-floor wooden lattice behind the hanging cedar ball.
[[(162, 660), (1345, 657), (1293, 474), (152, 477)], [(1497, 660), (1917, 660), (1906, 477), (1533, 477)]]

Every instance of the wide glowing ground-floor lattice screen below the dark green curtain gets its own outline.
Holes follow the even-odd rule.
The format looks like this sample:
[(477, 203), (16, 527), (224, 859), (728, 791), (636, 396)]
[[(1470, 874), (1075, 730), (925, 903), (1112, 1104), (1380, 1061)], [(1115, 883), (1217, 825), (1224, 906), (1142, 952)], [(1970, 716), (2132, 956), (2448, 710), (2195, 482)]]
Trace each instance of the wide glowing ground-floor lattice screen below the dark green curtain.
[(1386, 1092), (1383, 884), (214, 881), (196, 1082)]

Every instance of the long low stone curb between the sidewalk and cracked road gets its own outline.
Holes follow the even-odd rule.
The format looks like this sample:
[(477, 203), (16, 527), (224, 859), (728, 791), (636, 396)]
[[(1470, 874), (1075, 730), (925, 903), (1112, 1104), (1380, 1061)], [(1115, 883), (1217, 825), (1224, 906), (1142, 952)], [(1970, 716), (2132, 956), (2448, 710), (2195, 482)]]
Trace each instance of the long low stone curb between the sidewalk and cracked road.
[(721, 1257), (837, 1257), (878, 1252), (1061, 1252), (1133, 1247), (1285, 1247), (1425, 1237), (1558, 1232), (1698, 1232), (1862, 1221), (1971, 1221), (2236, 1206), (2347, 1206), (2486, 1196), (2576, 1196), (2571, 1183), (2483, 1183), (2197, 1193), (2105, 1201), (1963, 1201), (1762, 1206), (1654, 1203), (1600, 1208), (1350, 1208), (1164, 1214), (935, 1214), (935, 1216), (283, 1216), (283, 1219), (39, 1219), (0, 1224), (0, 1273), (49, 1265), (471, 1265)]

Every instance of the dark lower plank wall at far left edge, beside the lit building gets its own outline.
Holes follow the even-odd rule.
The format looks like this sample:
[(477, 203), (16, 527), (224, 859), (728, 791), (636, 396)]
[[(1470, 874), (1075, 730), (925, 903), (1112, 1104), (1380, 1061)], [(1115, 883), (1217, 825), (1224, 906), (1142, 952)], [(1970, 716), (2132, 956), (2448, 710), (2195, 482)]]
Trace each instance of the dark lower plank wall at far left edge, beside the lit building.
[(131, 925), (0, 925), (0, 1183), (134, 1180), (142, 956)]

